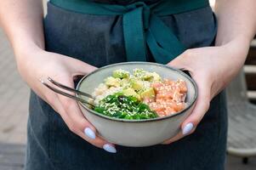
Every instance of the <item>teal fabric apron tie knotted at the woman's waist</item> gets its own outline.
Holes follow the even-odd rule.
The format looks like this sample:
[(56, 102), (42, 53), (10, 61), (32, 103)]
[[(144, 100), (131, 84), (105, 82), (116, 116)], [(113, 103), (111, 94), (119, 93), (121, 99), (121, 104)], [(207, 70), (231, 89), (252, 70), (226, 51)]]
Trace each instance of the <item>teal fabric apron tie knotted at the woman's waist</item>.
[(161, 0), (151, 5), (136, 2), (127, 6), (92, 3), (88, 0), (51, 0), (50, 2), (82, 14), (122, 15), (128, 61), (146, 61), (148, 47), (156, 62), (162, 64), (182, 54), (185, 47), (160, 17), (209, 5), (208, 0)]

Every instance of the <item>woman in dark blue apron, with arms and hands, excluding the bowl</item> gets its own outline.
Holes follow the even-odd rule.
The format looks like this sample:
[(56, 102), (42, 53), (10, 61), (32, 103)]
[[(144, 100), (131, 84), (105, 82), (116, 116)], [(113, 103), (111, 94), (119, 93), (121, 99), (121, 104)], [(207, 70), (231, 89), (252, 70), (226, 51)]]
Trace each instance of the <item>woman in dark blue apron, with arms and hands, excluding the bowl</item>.
[[(32, 89), (26, 169), (224, 169), (227, 120), (224, 94), (219, 92), (246, 59), (256, 30), (256, 3), (217, 1), (217, 29), (207, 1), (141, 2), (52, 0), (44, 25), (41, 1), (0, 2), (1, 23), (14, 48), (20, 75)], [(163, 5), (159, 13), (151, 8), (155, 4), (159, 8), (162, 2), (168, 2), (168, 6)], [(96, 10), (105, 4), (107, 11)], [(117, 9), (110, 4), (122, 9), (120, 14), (109, 14)], [(180, 10), (168, 10), (175, 5)], [(162, 11), (167, 13), (161, 15)], [(129, 30), (134, 32), (131, 23), (141, 15), (143, 24), (136, 26), (142, 26), (145, 32), (129, 34)], [(172, 48), (163, 48), (179, 48), (162, 63), (190, 71), (199, 88), (196, 107), (182, 123), (180, 133), (163, 144), (145, 148), (114, 145), (97, 135), (75, 101), (54, 94), (38, 79), (54, 77), (74, 87), (77, 75), (88, 74), (96, 67), (127, 60), (161, 60), (148, 35), (153, 17), (161, 23), (156, 34), (168, 26), (170, 30), (164, 35), (171, 35), (174, 41), (170, 42)], [(144, 58), (133, 58), (130, 53), (136, 50), (129, 48), (133, 47), (131, 39), (141, 36), (142, 40), (136, 41), (146, 42), (147, 47), (141, 50), (137, 48), (141, 43), (134, 42), (134, 48)]]

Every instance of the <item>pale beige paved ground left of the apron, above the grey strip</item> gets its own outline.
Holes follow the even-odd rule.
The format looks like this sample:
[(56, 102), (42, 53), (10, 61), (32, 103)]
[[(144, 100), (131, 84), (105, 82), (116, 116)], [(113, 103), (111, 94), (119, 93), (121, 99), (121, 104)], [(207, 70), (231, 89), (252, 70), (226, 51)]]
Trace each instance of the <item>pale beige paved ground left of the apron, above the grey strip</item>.
[(29, 89), (16, 71), (13, 56), (0, 30), (0, 142), (25, 144)]

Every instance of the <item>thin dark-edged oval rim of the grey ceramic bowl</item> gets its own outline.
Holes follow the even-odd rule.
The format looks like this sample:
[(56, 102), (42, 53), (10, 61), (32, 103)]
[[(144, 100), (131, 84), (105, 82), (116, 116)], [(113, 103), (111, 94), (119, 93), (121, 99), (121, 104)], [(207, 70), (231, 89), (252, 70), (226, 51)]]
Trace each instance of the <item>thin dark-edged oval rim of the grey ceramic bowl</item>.
[[(193, 87), (195, 88), (195, 95), (194, 95), (191, 103), (184, 110), (179, 111), (179, 112), (177, 112), (177, 113), (175, 113), (173, 115), (156, 117), (156, 118), (150, 118), (150, 119), (140, 119), (140, 120), (138, 120), (138, 119), (134, 119), (134, 120), (118, 119), (118, 118), (111, 117), (111, 116), (105, 116), (105, 115), (102, 115), (102, 114), (100, 114), (100, 113), (98, 113), (96, 111), (91, 110), (90, 108), (88, 108), (87, 105), (83, 104), (81, 101), (77, 101), (77, 103), (80, 106), (82, 106), (82, 108), (84, 108), (86, 111), (92, 112), (95, 116), (100, 116), (101, 118), (105, 118), (105, 119), (108, 119), (110, 121), (116, 121), (116, 122), (156, 122), (156, 121), (161, 121), (161, 120), (168, 119), (170, 117), (178, 116), (178, 115), (180, 115), (182, 113), (185, 113), (185, 111), (188, 111), (191, 108), (191, 106), (193, 106), (195, 104), (197, 96), (198, 96), (198, 89), (197, 89), (196, 82), (191, 77), (189, 77), (187, 74), (185, 74), (185, 72), (180, 71), (179, 69), (176, 69), (176, 68), (171, 67), (169, 65), (162, 65), (162, 64), (158, 64), (158, 63), (152, 63), (152, 62), (131, 61), (131, 62), (121, 62), (121, 63), (111, 64), (111, 65), (105, 65), (105, 66), (100, 67), (99, 69), (97, 69), (95, 71), (92, 71), (92, 72), (88, 73), (84, 77), (82, 77), (82, 79), (77, 83), (76, 89), (79, 90), (83, 80), (86, 79), (87, 77), (93, 75), (95, 72), (102, 71), (102, 70), (105, 70), (106, 68), (109, 68), (111, 66), (116, 66), (116, 65), (138, 65), (138, 64), (139, 65), (156, 65), (156, 66), (165, 67), (165, 68), (168, 68), (168, 69), (170, 69), (172, 71), (177, 71), (177, 72), (179, 72), (179, 74), (181, 74), (182, 76), (186, 77), (192, 83)], [(77, 97), (79, 96), (78, 94), (76, 94), (76, 95), (77, 95)]]

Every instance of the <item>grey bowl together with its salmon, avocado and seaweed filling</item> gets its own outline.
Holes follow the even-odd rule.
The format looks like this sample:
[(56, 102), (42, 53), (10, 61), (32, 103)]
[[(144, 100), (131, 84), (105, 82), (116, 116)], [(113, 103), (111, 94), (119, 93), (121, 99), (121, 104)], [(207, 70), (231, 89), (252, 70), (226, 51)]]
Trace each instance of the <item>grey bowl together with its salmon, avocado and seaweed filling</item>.
[(78, 105), (99, 135), (130, 147), (161, 144), (174, 137), (197, 98), (196, 82), (183, 71), (149, 62), (101, 67), (82, 77), (77, 90), (94, 96), (94, 108)]

